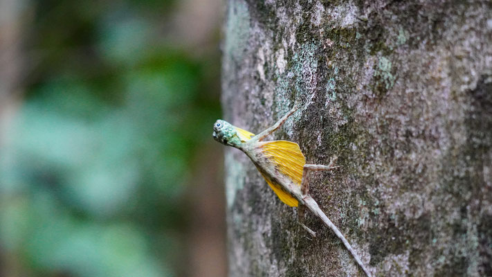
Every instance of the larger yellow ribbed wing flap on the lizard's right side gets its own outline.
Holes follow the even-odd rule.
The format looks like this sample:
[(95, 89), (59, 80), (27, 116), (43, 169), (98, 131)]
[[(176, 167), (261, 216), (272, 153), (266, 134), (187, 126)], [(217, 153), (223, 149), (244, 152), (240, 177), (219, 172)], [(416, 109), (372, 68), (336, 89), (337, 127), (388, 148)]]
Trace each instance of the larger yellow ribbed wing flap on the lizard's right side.
[(258, 148), (265, 157), (270, 159), (273, 166), (300, 186), (302, 170), (306, 159), (300, 151), (299, 145), (291, 141), (265, 141)]

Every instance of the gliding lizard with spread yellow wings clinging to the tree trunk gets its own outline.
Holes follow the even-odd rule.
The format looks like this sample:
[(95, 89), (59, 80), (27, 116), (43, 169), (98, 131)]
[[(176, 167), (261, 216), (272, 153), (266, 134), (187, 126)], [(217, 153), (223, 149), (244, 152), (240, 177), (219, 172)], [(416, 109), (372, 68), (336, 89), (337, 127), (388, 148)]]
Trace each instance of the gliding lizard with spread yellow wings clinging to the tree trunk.
[[(235, 127), (224, 120), (217, 120), (214, 124), (212, 136), (219, 143), (233, 146), (242, 150), (256, 168), (262, 174), (266, 183), (273, 189), (282, 202), (289, 206), (298, 206), (300, 219), (304, 215), (304, 208), (308, 208), (322, 222), (334, 231), (336, 236), (342, 240), (347, 250), (352, 254), (357, 264), (363, 269), (367, 276), (371, 276), (361, 259), (357, 256), (352, 246), (338, 228), (329, 220), (327, 215), (321, 211), (320, 207), (309, 195), (309, 172), (320, 170), (332, 170), (336, 157), (331, 159), (328, 166), (307, 164), (304, 155), (300, 151), (299, 145), (291, 141), (263, 141), (266, 136), (279, 129), (289, 116), (296, 110), (298, 105), (284, 115), (273, 126), (268, 127), (263, 132), (255, 135), (239, 127)], [(311, 235), (316, 233), (306, 225), (299, 222)]]

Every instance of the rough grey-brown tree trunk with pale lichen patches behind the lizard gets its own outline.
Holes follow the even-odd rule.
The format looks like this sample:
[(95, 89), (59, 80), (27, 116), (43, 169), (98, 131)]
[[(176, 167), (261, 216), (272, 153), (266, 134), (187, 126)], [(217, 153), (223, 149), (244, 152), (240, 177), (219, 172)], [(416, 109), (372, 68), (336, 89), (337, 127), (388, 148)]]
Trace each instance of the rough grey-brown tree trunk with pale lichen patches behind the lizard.
[[(492, 276), (491, 1), (228, 0), (224, 119), (275, 133), (375, 276)], [(226, 150), (230, 276), (362, 276), (322, 222)]]

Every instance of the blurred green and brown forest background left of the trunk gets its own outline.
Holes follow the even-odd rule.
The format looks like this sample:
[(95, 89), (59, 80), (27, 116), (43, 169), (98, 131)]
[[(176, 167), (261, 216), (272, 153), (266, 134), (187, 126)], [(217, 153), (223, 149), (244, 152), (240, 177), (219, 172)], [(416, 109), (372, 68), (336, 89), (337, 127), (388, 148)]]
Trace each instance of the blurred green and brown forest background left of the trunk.
[(222, 0), (0, 0), (0, 276), (225, 276)]

